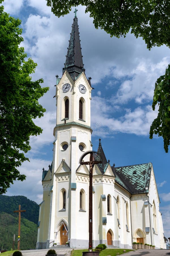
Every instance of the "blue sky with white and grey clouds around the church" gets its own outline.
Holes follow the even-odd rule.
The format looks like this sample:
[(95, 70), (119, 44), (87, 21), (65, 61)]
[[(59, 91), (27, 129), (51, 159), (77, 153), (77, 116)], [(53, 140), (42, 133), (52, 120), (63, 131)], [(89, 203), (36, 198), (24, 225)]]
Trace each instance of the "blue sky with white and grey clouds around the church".
[[(22, 20), (28, 57), (38, 64), (33, 80), (43, 78), (50, 90), (40, 99), (46, 108), (43, 118), (36, 119), (42, 135), (31, 137), (30, 162), (20, 167), (26, 181), (15, 181), (6, 195), (24, 195), (42, 201), (42, 168), (52, 161), (53, 128), (56, 119), (55, 75), (62, 76), (71, 25), (72, 10), (57, 18), (45, 0), (5, 0), (5, 11)], [(155, 81), (170, 63), (165, 46), (149, 51), (145, 42), (134, 35), (110, 38), (100, 28), (96, 30), (84, 7), (77, 7), (78, 24), (86, 77), (92, 77), (91, 127), (93, 150), (98, 139), (110, 164), (126, 166), (152, 162), (160, 196), (164, 233), (170, 236), (169, 153), (163, 149), (162, 138), (149, 139), (150, 124), (157, 115), (152, 111)]]

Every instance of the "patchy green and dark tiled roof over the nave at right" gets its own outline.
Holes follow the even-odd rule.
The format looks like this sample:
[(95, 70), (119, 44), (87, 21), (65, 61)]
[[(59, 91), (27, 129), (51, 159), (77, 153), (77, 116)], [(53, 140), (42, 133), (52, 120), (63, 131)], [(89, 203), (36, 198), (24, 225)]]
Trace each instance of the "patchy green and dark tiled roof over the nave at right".
[(114, 168), (115, 181), (131, 194), (148, 193), (152, 163)]

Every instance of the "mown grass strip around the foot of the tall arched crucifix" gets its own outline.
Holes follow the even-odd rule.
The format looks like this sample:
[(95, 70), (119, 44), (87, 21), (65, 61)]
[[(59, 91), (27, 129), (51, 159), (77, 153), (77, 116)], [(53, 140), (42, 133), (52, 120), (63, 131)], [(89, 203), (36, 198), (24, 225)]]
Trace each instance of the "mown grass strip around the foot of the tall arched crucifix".
[[(117, 256), (117, 255), (121, 255), (121, 254), (124, 254), (123, 250), (126, 250), (126, 253), (128, 251), (133, 251), (133, 250), (130, 250), (130, 249), (104, 249), (104, 250), (101, 251), (100, 256), (107, 256), (107, 255)], [(82, 256), (82, 252), (83, 251), (88, 251), (88, 250), (87, 249), (72, 250), (71, 256)]]

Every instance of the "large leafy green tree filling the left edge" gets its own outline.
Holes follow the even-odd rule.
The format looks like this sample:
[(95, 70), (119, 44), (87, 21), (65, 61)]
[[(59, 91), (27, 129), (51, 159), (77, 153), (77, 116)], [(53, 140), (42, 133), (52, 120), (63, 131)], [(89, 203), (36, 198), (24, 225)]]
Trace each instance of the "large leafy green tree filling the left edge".
[(38, 99), (48, 87), (41, 88), (42, 79), (31, 80), (36, 63), (30, 58), (25, 61), (27, 55), (19, 47), (23, 41), (20, 24), (0, 6), (0, 194), (14, 180), (25, 179), (17, 168), (29, 160), (24, 153), (31, 149), (30, 136), (42, 133), (32, 119), (46, 111)]

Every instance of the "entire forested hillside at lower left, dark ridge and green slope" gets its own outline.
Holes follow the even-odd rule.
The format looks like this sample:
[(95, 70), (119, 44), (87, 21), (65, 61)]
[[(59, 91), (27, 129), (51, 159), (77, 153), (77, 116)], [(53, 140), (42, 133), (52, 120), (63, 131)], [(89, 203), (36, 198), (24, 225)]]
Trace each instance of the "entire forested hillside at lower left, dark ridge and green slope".
[(24, 196), (0, 195), (0, 250), (10, 250), (13, 244), (14, 234), (16, 236), (14, 249), (17, 249), (18, 240), (18, 213), (15, 210), (26, 210), (21, 212), (21, 235), (20, 249), (35, 249), (37, 241), (37, 223), (39, 206), (34, 201)]

